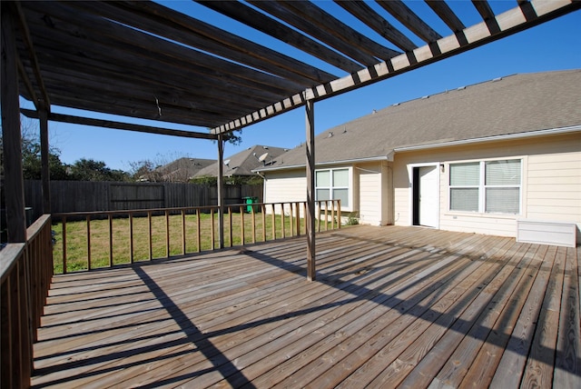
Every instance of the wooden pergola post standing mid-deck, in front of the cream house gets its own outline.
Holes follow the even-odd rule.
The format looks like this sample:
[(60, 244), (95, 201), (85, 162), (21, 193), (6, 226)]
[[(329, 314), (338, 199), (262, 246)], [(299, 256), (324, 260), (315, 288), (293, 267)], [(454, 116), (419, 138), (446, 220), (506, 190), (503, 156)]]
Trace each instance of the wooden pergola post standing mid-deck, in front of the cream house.
[(307, 100), (307, 279), (314, 281), (315, 269), (315, 102)]

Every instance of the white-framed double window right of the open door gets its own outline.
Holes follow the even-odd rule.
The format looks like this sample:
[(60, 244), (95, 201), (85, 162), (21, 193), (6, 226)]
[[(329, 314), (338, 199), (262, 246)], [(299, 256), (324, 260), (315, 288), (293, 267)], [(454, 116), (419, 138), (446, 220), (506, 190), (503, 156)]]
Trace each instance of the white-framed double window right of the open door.
[(520, 214), (520, 159), (449, 165), (450, 211)]

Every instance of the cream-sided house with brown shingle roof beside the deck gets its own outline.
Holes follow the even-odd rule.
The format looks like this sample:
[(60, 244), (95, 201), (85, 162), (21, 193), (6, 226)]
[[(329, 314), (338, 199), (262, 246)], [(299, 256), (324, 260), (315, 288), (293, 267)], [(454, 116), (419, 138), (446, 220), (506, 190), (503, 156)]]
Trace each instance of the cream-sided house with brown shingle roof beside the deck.
[[(581, 70), (510, 75), (391, 105), (318, 135), (315, 156), (317, 199), (340, 198), (361, 224), (517, 236), (530, 220), (557, 221), (530, 232), (533, 240), (570, 242), (572, 228), (575, 242)], [(258, 171), (265, 202), (306, 199), (304, 145)]]

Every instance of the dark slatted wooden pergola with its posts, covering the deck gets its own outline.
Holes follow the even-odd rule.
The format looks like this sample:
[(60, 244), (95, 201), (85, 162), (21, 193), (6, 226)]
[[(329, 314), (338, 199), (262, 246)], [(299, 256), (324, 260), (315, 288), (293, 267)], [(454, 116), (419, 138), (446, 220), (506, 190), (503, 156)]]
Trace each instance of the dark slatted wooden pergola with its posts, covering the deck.
[[(409, 2), (378, 0), (379, 7), (372, 7), (367, 2), (337, 1), (382, 37), (372, 40), (316, 2), (198, 3), (292, 45), (336, 71), (320, 69), (195, 15), (153, 2), (2, 2), (1, 103), (10, 243), (26, 240), (21, 112), (40, 119), (44, 213), (50, 214), (48, 121), (217, 140), (222, 209), (223, 141), (232, 131), (305, 106), (308, 278), (312, 280), (314, 103), (458, 55), (581, 7), (574, 0), (518, 0), (514, 8), (495, 14), (486, 0), (473, 0), (481, 21), (467, 26), (446, 1), (426, 0), (448, 26), (448, 33), (440, 35), (412, 11)], [(405, 30), (393, 25), (393, 20)], [(423, 45), (414, 43), (419, 40)], [(20, 96), (36, 110), (21, 110)], [(153, 119), (160, 126), (57, 115), (51, 112), (55, 105)], [(212, 131), (170, 130), (163, 123)], [(222, 245), (222, 224), (219, 228)]]

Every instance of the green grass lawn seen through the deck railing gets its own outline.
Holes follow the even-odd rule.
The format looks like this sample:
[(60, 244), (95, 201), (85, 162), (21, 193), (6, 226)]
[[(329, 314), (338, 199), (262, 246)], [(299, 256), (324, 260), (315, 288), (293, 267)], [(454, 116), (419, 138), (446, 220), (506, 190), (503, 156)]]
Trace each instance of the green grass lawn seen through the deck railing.
[[(228, 214), (224, 215), (224, 246), (241, 245), (241, 214), (231, 214), (231, 228)], [(266, 236), (262, 234), (262, 214), (254, 214), (255, 234), (252, 234), (252, 215), (244, 214), (244, 243), (272, 240), (272, 215), (265, 214)], [(218, 214), (213, 215), (214, 247), (219, 246)], [(283, 236), (281, 215), (276, 215), (276, 238)], [(212, 249), (212, 215), (200, 214), (200, 247), (198, 247), (198, 227), (196, 214), (172, 214), (169, 216), (169, 246), (166, 239), (166, 217), (152, 216), (152, 258), (166, 258), (183, 254), (182, 224), (185, 225), (185, 254)], [(292, 220), (296, 234), (296, 219)], [(325, 226), (321, 225), (321, 231)], [(330, 224), (328, 225), (330, 229)], [(111, 264), (130, 264), (132, 250), (129, 217), (113, 218), (113, 254), (110, 255), (109, 220), (91, 220), (90, 245), (91, 268), (107, 267)], [(63, 272), (63, 224), (53, 225), (56, 243), (54, 244), (54, 274)], [(300, 234), (305, 234), (304, 220), (300, 219)], [(230, 236), (232, 239), (230, 240)], [(284, 236), (291, 236), (291, 217), (284, 217)], [(169, 255), (168, 255), (169, 253)], [(86, 270), (88, 264), (87, 222), (66, 222), (66, 271)], [(147, 216), (133, 217), (133, 262), (149, 261), (149, 222)]]

